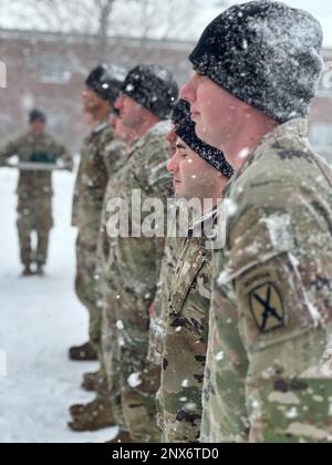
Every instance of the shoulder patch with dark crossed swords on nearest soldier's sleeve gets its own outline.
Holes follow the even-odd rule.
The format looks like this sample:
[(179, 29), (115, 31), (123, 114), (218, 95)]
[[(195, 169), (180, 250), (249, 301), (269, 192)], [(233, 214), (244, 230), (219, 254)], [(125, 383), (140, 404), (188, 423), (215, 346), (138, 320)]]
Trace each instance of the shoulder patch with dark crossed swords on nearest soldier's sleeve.
[(272, 282), (255, 288), (249, 294), (250, 311), (262, 333), (284, 328), (286, 313), (282, 297)]

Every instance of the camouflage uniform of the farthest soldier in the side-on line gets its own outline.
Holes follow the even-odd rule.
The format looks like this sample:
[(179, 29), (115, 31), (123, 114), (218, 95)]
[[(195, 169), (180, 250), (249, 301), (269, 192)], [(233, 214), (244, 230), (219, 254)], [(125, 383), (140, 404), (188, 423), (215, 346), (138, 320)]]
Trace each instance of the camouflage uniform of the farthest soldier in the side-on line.
[(95, 127), (85, 138), (75, 183), (72, 224), (79, 228), (76, 241), (76, 294), (90, 313), (90, 339), (100, 353), (102, 293), (97, 272), (97, 240), (108, 177), (121, 163), (114, 149), (108, 122)]

